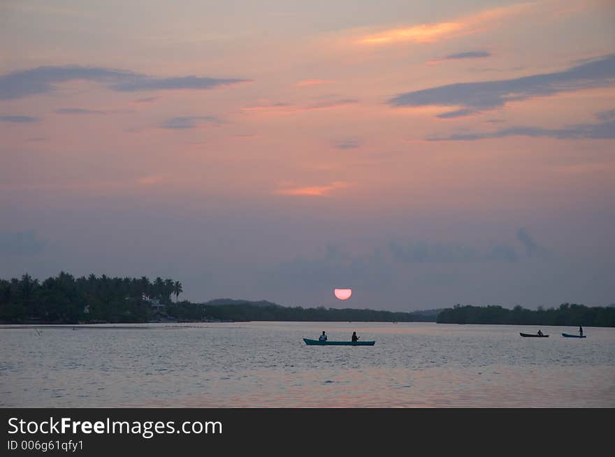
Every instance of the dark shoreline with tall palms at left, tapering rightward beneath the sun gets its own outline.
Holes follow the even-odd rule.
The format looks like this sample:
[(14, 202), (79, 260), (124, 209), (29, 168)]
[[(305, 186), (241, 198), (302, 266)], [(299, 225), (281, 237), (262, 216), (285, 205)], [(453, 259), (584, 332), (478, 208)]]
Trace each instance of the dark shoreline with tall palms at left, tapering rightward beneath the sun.
[[(435, 314), (325, 307), (284, 307), (269, 302), (179, 300), (182, 283), (157, 277), (73, 277), (61, 272), (40, 282), (28, 274), (0, 279), (0, 322), (10, 324), (138, 323), (178, 321), (434, 321)], [(175, 301), (172, 297), (175, 296)]]

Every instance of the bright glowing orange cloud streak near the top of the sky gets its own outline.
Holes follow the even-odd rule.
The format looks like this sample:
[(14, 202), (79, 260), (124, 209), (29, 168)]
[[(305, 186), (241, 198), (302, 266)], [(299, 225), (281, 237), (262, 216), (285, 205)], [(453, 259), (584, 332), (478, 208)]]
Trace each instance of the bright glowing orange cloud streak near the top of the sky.
[(535, 3), (520, 3), (486, 10), (473, 15), (459, 17), (450, 22), (437, 22), (435, 24), (419, 24), (407, 28), (398, 28), (382, 31), (379, 34), (363, 36), (359, 43), (365, 45), (391, 44), (404, 41), (414, 43), (431, 43), (439, 39), (451, 38), (461, 34), (470, 34), (486, 27), (491, 27), (496, 21), (517, 15), (534, 6)]

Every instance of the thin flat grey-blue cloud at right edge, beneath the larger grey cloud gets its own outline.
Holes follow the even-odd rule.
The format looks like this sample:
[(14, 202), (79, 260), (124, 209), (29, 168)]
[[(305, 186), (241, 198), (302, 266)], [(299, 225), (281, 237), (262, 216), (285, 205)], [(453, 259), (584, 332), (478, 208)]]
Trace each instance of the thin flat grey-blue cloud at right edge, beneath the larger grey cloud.
[(563, 140), (593, 139), (608, 140), (615, 138), (615, 119), (602, 124), (576, 124), (563, 129), (542, 129), (540, 127), (519, 126), (491, 132), (455, 133), (444, 137), (426, 138), (428, 141), (474, 141), (506, 136), (533, 136), (558, 138)]

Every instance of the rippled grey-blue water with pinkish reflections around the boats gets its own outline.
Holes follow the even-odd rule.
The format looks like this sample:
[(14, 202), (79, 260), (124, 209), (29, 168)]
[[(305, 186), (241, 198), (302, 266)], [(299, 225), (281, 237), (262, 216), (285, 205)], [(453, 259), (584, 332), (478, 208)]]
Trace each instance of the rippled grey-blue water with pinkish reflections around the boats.
[[(431, 323), (75, 328), (0, 327), (1, 407), (615, 407), (615, 328), (583, 340)], [(301, 340), (323, 330), (376, 344)]]

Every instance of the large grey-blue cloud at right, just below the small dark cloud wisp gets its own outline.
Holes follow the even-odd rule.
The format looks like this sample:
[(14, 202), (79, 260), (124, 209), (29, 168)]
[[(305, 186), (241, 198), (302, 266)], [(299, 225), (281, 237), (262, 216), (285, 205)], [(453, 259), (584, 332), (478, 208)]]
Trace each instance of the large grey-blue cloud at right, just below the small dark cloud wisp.
[(461, 82), (399, 94), (391, 106), (455, 106), (456, 113), (475, 113), (504, 106), (509, 101), (615, 84), (615, 54), (563, 71), (481, 82)]

